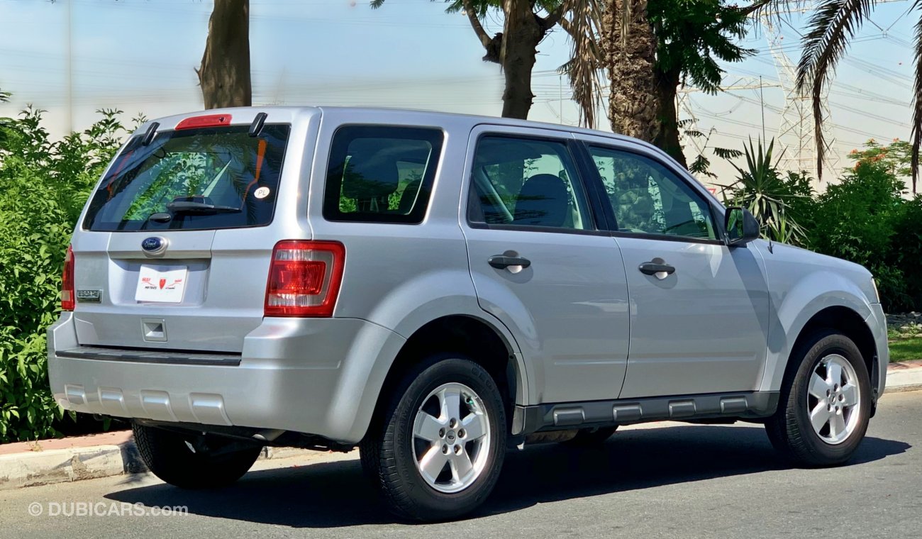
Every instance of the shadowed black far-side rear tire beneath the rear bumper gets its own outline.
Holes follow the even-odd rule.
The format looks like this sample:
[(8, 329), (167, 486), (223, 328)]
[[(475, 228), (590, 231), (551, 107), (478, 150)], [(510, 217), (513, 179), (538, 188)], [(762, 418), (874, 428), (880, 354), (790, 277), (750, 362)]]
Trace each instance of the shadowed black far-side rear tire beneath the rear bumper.
[[(132, 425), (135, 443), (148, 469), (163, 481), (181, 488), (218, 488), (231, 485), (253, 466), (262, 447), (231, 450), (231, 439), (206, 436), (204, 443), (195, 434), (183, 436), (164, 428)], [(189, 446), (198, 447), (195, 451)]]

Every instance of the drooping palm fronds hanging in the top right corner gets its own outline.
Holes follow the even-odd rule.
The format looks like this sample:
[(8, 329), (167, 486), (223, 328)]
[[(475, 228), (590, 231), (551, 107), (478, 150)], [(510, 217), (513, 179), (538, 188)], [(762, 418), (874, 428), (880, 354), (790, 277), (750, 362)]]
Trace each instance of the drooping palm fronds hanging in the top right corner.
[[(822, 139), (822, 88), (835, 72), (835, 66), (845, 56), (848, 42), (855, 37), (862, 23), (870, 17), (874, 0), (822, 0), (807, 25), (803, 39), (803, 53), (798, 62), (798, 89), (810, 90), (813, 101), (813, 122), (816, 133), (817, 179), (822, 179), (822, 157), (825, 144)], [(922, 15), (922, 1), (915, 0), (913, 7)], [(913, 89), (912, 123), (912, 175), (913, 193), (916, 193), (919, 144), (922, 142), (922, 18), (916, 22), (916, 84)]]

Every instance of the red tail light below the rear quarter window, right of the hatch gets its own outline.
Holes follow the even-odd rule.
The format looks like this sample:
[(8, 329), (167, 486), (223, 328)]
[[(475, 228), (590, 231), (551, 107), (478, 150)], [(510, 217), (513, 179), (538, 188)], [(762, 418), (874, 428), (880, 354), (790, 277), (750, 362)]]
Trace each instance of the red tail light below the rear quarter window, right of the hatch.
[(338, 241), (284, 240), (272, 251), (266, 316), (333, 316), (346, 262)]

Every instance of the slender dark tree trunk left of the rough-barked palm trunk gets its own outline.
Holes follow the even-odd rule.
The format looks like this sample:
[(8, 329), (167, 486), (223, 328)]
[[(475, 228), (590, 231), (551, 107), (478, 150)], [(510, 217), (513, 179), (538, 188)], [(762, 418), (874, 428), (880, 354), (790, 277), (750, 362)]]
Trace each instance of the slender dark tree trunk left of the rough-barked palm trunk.
[(503, 0), (500, 64), (506, 88), (502, 92), (502, 117), (528, 119), (535, 95), (531, 93), (531, 70), (535, 67), (538, 42), (545, 29), (527, 0)]

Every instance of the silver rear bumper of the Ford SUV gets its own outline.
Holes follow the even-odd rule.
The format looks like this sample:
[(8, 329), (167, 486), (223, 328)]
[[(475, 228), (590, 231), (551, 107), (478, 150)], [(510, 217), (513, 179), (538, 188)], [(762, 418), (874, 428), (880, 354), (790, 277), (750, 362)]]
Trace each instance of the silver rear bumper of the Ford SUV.
[(358, 442), (405, 339), (358, 319), (266, 319), (239, 365), (62, 357), (78, 347), (65, 313), (48, 332), (54, 398), (68, 410), (203, 425), (272, 428)]

